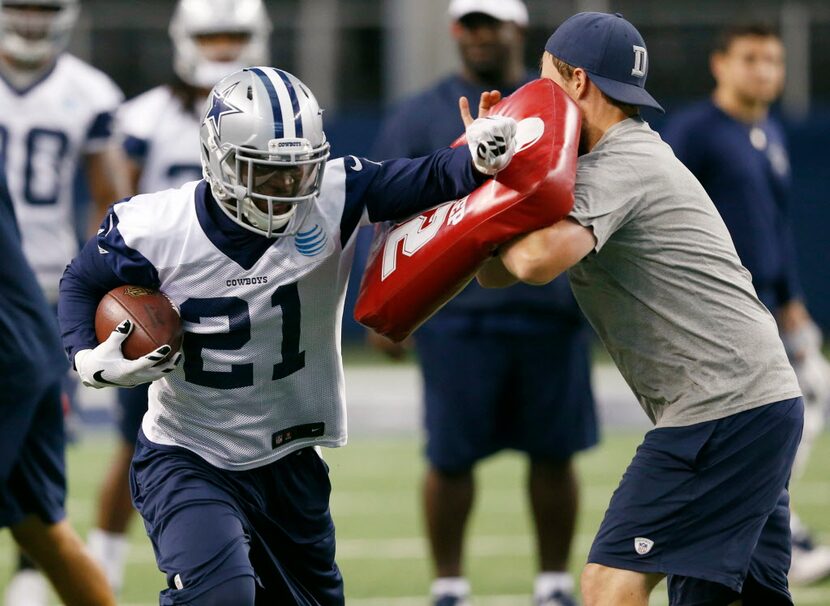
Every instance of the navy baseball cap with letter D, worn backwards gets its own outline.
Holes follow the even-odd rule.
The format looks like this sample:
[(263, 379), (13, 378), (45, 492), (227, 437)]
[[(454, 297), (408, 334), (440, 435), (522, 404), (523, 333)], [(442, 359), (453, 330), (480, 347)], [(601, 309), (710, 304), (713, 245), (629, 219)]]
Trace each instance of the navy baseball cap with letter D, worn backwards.
[(591, 82), (612, 99), (664, 111), (645, 89), (646, 43), (620, 13), (578, 13), (556, 28), (545, 50), (584, 69)]

